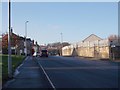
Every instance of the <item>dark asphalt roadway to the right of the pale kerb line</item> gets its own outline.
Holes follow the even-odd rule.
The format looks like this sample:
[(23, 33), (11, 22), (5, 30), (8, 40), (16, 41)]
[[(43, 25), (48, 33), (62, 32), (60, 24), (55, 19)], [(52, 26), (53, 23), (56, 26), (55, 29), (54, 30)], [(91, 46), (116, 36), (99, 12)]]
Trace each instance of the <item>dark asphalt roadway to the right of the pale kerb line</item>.
[(36, 60), (55, 88), (118, 88), (118, 63), (59, 56)]

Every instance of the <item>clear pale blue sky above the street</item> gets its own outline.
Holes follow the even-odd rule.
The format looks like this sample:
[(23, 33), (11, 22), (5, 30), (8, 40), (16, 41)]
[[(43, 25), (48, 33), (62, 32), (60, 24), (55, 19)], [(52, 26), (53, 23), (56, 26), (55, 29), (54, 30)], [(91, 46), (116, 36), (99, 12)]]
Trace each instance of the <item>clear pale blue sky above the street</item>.
[[(2, 3), (2, 33), (8, 31), (8, 3)], [(118, 34), (117, 2), (12, 2), (13, 32), (39, 44), (75, 43), (91, 34)]]

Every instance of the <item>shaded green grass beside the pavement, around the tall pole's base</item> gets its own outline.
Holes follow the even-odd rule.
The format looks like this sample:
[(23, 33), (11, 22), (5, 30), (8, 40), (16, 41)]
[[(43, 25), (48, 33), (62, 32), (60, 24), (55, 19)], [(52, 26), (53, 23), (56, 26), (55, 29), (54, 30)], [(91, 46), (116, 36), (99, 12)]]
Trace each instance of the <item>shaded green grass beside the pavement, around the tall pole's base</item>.
[[(2, 82), (3, 84), (9, 79), (8, 78), (8, 55), (0, 55), (2, 60)], [(16, 67), (19, 66), (24, 60), (24, 56), (12, 55), (12, 71), (14, 72)]]

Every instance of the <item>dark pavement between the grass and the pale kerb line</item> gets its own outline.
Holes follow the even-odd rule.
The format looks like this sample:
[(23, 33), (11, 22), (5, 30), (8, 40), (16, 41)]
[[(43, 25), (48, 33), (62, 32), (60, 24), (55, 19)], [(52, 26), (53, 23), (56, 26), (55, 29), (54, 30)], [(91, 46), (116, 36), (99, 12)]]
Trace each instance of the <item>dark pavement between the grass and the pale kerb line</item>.
[(51, 88), (51, 86), (36, 61), (28, 56), (16, 69), (14, 78), (4, 85), (3, 89), (7, 88)]

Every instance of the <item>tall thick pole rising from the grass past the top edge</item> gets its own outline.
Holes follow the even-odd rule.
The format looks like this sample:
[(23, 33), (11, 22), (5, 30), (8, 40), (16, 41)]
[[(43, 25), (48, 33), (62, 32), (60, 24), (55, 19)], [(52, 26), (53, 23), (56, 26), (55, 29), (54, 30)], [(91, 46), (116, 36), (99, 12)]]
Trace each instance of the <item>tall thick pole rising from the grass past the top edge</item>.
[(8, 77), (12, 78), (12, 58), (11, 58), (11, 1), (8, 0)]

